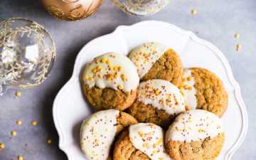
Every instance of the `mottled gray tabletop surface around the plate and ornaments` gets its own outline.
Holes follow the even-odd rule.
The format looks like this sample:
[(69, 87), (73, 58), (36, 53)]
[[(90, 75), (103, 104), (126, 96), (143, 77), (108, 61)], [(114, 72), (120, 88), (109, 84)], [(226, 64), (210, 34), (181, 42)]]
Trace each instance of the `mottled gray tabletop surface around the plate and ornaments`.
[[(198, 14), (191, 16), (191, 9), (198, 9)], [(16, 159), (19, 154), (25, 160), (67, 159), (58, 149), (51, 110), (55, 95), (70, 78), (78, 51), (92, 38), (110, 33), (119, 25), (148, 19), (168, 21), (198, 32), (198, 36), (223, 51), (240, 83), (250, 122), (245, 142), (233, 159), (256, 159), (255, 0), (171, 0), (159, 14), (146, 18), (124, 14), (110, 0), (105, 0), (95, 16), (77, 22), (56, 20), (36, 0), (0, 0), (0, 20), (10, 17), (30, 18), (45, 26), (55, 40), (58, 55), (43, 85), (24, 90), (18, 99), (14, 90), (0, 97), (0, 142), (6, 144), (6, 149), (0, 151), (0, 160)], [(235, 33), (240, 33), (239, 39), (233, 38)], [(237, 43), (243, 47), (240, 52), (235, 51)], [(23, 124), (17, 126), (16, 119), (21, 119)], [(33, 119), (38, 120), (38, 126), (31, 125)], [(17, 131), (16, 137), (11, 138), (11, 130)], [(46, 144), (48, 137), (53, 139), (51, 146)]]

